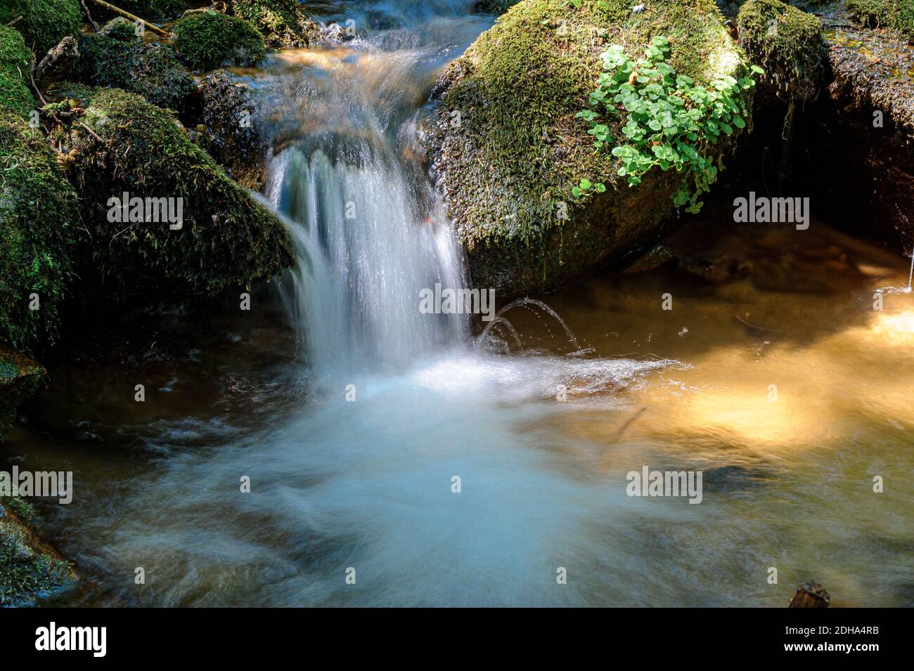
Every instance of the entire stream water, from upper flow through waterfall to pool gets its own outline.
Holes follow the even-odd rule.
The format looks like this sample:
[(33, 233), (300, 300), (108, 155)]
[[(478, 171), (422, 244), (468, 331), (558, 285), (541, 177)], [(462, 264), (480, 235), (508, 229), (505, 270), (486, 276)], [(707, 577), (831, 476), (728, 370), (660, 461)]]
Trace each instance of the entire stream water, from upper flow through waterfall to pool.
[[(175, 360), (61, 366), (0, 446), (75, 471), (42, 507), (82, 576), (58, 603), (783, 605), (813, 578), (910, 605), (914, 299), (870, 309), (904, 259), (817, 222), (791, 238), (837, 250), (792, 253), (813, 287), (664, 267), (484, 331), (420, 314), (421, 288), (467, 281), (420, 146), (436, 73), (493, 21), (472, 5), (326, 4), (362, 37), (245, 75), (298, 267), (250, 316), (164, 317)], [(727, 244), (771, 265), (770, 241)], [(701, 504), (627, 496), (643, 466), (701, 470)]]

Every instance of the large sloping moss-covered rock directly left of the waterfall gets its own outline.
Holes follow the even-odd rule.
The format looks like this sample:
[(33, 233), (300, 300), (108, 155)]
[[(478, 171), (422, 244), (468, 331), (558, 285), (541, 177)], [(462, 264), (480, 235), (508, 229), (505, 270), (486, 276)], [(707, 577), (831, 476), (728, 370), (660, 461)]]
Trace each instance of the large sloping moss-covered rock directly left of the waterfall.
[[(120, 89), (100, 89), (81, 121), (104, 143), (73, 126), (70, 174), (89, 232), (80, 277), (109, 304), (211, 296), (292, 265), (282, 222), (190, 142), (171, 111)], [(149, 201), (170, 203), (173, 216), (150, 207), (124, 221), (115, 200), (123, 193), (143, 203), (173, 199)]]

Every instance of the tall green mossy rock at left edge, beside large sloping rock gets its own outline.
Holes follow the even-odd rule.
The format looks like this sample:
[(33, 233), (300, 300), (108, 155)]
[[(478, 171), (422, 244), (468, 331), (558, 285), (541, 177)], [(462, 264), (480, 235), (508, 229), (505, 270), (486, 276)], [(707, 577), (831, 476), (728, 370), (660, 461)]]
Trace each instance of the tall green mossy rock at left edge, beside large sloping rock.
[(0, 110), (0, 341), (20, 349), (53, 341), (78, 224), (76, 193), (45, 138)]

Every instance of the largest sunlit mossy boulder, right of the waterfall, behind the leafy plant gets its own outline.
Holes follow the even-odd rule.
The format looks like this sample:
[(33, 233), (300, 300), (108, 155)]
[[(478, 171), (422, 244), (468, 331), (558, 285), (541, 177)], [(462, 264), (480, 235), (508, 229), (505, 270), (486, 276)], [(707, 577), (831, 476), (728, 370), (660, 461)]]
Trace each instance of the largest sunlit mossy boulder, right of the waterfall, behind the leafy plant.
[[(670, 64), (698, 84), (747, 68), (713, 0), (647, 3), (637, 14), (628, 0), (523, 0), (442, 73), (430, 161), (475, 286), (503, 299), (557, 288), (664, 230), (683, 176), (652, 170), (629, 187), (616, 176), (622, 161), (596, 151), (576, 116), (604, 50), (640, 55), (658, 36), (673, 39)], [(622, 136), (618, 125), (611, 133)], [(606, 192), (576, 199), (582, 177), (600, 177)]]

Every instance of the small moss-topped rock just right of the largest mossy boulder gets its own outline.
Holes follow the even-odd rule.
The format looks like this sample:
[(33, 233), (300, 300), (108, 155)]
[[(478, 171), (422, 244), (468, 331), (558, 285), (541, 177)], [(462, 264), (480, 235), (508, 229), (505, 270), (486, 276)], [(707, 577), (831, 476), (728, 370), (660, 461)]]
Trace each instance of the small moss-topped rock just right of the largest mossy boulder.
[(826, 58), (819, 19), (780, 0), (749, 0), (739, 9), (739, 45), (765, 70), (762, 85), (779, 97), (814, 100)]

